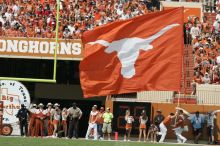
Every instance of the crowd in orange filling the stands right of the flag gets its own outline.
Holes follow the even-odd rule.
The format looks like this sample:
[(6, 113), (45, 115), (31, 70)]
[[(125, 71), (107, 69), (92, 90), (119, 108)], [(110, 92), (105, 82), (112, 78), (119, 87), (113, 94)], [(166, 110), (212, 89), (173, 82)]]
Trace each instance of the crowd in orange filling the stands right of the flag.
[[(185, 35), (192, 39), (194, 55), (194, 83), (220, 83), (220, 13), (212, 24), (206, 17), (189, 19)], [(190, 43), (191, 43), (190, 39)]]

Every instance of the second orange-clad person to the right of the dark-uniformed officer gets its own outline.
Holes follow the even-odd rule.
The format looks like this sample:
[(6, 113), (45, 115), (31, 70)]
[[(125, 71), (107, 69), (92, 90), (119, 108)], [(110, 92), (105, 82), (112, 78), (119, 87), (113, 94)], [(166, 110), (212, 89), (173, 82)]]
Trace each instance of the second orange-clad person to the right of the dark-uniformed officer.
[(44, 114), (44, 105), (40, 103), (38, 105), (39, 109), (36, 112), (36, 129), (35, 129), (35, 136), (44, 136), (44, 119), (46, 115)]

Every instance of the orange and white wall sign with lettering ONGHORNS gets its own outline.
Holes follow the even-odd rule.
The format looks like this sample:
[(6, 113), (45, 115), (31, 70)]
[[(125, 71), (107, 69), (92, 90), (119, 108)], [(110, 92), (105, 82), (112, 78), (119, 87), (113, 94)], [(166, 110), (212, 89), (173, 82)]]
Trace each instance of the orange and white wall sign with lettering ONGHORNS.
[[(55, 39), (0, 38), (0, 57), (53, 59), (55, 48)], [(81, 40), (58, 41), (57, 59), (80, 60), (82, 53)]]

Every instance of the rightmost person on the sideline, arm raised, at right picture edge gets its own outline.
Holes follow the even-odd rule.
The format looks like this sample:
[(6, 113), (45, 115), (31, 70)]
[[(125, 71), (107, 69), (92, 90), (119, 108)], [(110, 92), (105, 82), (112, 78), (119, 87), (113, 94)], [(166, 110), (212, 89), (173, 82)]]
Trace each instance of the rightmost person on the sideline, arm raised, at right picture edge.
[(209, 111), (205, 117), (205, 121), (207, 123), (207, 135), (208, 135), (208, 144), (214, 144), (215, 137), (214, 137), (214, 129), (215, 129), (215, 114), (220, 112), (220, 110)]

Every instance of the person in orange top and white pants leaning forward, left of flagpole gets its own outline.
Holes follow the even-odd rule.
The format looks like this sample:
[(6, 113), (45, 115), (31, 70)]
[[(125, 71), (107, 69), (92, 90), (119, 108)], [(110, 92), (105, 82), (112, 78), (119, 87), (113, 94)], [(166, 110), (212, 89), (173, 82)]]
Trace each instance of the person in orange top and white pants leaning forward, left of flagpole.
[(161, 142), (164, 142), (164, 139), (165, 139), (165, 137), (166, 137), (166, 135), (167, 135), (167, 125), (169, 125), (170, 123), (171, 123), (171, 120), (173, 119), (173, 118), (175, 118), (176, 117), (176, 114), (174, 114), (174, 113), (170, 113), (164, 120), (163, 120), (163, 122), (161, 122), (160, 123), (160, 132), (158, 132), (158, 134), (159, 135), (161, 135), (161, 138), (160, 138), (160, 140), (159, 140), (159, 142), (161, 143)]

